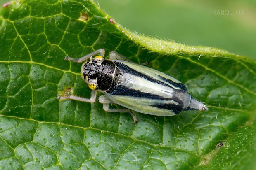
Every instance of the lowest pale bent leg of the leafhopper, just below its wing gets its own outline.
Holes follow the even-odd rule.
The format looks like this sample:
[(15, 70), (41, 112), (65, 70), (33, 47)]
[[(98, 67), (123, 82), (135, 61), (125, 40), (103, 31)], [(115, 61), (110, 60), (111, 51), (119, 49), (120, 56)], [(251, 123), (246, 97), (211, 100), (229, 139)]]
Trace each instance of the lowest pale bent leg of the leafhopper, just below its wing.
[(110, 109), (109, 104), (117, 104), (110, 100), (106, 95), (101, 95), (99, 98), (99, 102), (103, 104), (103, 109), (106, 112), (128, 112), (133, 118), (133, 124), (137, 122), (136, 117), (134, 116), (133, 112), (130, 109)]

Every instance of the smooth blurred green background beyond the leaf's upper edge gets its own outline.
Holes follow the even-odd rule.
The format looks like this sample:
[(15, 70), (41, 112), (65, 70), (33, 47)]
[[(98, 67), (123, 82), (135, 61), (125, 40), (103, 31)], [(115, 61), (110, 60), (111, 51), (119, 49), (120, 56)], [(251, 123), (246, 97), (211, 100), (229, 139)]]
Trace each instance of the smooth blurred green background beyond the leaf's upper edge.
[[(7, 0), (0, 0), (4, 4)], [(122, 26), (256, 60), (256, 0), (97, 0)]]

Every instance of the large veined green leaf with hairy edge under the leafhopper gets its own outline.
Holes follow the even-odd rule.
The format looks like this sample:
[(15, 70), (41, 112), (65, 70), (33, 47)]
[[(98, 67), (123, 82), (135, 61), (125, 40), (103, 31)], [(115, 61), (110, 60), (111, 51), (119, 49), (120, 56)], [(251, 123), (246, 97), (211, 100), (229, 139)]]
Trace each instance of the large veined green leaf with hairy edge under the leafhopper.
[[(0, 9), (0, 169), (255, 169), (256, 62), (137, 35), (109, 19), (89, 0), (20, 0)], [(99, 102), (57, 100), (68, 92), (90, 97), (81, 64), (64, 56), (100, 48), (148, 60), (209, 111), (135, 113), (132, 124)]]

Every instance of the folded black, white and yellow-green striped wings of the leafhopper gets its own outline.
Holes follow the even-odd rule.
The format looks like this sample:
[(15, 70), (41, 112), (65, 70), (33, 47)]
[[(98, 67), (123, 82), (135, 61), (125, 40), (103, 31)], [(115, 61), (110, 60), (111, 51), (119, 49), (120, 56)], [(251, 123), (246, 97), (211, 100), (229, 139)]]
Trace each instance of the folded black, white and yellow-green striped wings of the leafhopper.
[(189, 104), (190, 94), (185, 85), (173, 77), (128, 61), (114, 63), (125, 79), (113, 85), (105, 95), (117, 104), (159, 116), (173, 116)]

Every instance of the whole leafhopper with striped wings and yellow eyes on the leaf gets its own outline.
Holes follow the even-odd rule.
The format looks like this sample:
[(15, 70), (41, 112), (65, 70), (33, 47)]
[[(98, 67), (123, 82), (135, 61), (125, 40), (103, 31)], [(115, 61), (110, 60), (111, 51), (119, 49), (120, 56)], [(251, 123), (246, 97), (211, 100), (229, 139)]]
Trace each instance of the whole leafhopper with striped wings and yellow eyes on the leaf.
[[(99, 56), (92, 58), (96, 54)], [(97, 91), (100, 91), (104, 95), (99, 97), (99, 102), (105, 111), (129, 112), (133, 123), (137, 119), (131, 110), (157, 116), (174, 116), (183, 110), (208, 110), (206, 105), (187, 92), (184, 84), (173, 77), (133, 63), (116, 51), (110, 52), (109, 59), (105, 59), (104, 54), (104, 49), (98, 49), (78, 60), (66, 56), (65, 60), (76, 63), (85, 61), (81, 77), (92, 92), (90, 99), (74, 95), (58, 95), (58, 99), (95, 102)], [(109, 104), (125, 108), (112, 109)]]

